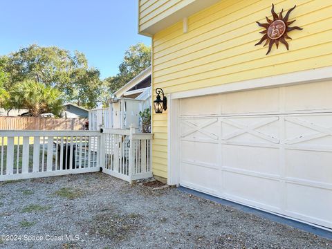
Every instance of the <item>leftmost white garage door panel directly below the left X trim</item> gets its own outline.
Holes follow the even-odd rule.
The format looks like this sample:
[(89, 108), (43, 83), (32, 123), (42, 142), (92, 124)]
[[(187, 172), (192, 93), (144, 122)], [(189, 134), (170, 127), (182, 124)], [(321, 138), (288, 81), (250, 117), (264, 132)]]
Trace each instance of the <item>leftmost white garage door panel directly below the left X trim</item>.
[[(181, 141), (182, 160), (193, 163), (205, 163), (208, 165), (218, 165), (218, 144), (209, 142)], [(204, 153), (202, 153), (204, 151)]]

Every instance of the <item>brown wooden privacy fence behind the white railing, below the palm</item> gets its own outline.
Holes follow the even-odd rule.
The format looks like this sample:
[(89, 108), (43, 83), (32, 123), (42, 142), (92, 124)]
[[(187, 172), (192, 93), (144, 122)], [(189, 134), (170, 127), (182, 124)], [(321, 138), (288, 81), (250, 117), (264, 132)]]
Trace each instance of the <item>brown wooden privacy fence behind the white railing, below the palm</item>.
[(86, 118), (0, 117), (0, 130), (77, 131)]

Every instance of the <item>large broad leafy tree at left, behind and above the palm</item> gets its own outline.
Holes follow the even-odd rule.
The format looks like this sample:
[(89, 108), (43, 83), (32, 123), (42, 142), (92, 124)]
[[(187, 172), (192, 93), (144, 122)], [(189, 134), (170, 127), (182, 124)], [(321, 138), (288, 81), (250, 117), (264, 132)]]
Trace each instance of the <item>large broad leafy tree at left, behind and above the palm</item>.
[[(99, 71), (89, 68), (83, 53), (56, 46), (30, 45), (0, 58), (0, 66), (8, 73), (7, 89), (26, 80), (53, 86), (64, 93), (66, 102), (87, 108), (96, 106), (102, 84)], [(84, 93), (84, 94), (83, 94)]]

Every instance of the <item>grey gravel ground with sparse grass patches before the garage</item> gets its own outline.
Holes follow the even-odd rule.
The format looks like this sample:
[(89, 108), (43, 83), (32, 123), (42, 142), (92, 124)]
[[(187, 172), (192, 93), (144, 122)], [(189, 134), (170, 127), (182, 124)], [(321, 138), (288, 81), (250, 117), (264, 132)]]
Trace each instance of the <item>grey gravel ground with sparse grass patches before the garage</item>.
[(0, 248), (332, 248), (176, 188), (101, 173), (0, 183), (0, 222), (0, 234), (17, 236)]

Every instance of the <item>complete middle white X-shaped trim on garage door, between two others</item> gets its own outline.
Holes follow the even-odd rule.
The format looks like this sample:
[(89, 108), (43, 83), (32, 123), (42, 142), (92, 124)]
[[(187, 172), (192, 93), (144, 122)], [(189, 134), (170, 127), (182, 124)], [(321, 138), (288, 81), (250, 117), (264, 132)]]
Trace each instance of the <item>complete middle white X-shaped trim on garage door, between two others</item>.
[(275, 122), (277, 120), (279, 120), (278, 117), (273, 117), (273, 118), (270, 118), (268, 120), (261, 120), (260, 122), (257, 122), (255, 124), (246, 125), (246, 124), (240, 124), (239, 122), (235, 122), (234, 120), (223, 118), (222, 122), (225, 122), (226, 124), (230, 124), (232, 127), (239, 128), (239, 130), (234, 131), (234, 132), (228, 134), (227, 136), (224, 136), (223, 140), (229, 140), (230, 138), (234, 138), (234, 137), (239, 136), (243, 133), (250, 133), (253, 136), (263, 138), (264, 140), (268, 140), (268, 141), (273, 142), (273, 143), (279, 143), (278, 138), (275, 138), (275, 137), (270, 136), (268, 134), (262, 133), (260, 131), (255, 131), (255, 129), (257, 129), (259, 127), (263, 127), (264, 125), (270, 124), (271, 122)]

